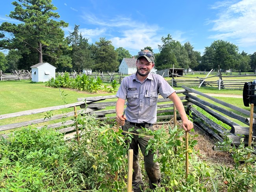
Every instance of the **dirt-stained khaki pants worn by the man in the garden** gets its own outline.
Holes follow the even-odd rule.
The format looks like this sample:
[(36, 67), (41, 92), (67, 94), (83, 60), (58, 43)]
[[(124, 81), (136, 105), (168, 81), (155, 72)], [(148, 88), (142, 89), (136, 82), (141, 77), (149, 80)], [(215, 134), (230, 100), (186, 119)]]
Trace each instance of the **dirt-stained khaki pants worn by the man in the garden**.
[[(122, 126), (123, 131), (128, 131), (129, 128), (134, 127), (134, 125), (131, 125), (130, 122), (125, 122), (124, 126)], [(153, 126), (146, 127), (153, 131)], [(137, 130), (141, 129), (141, 127), (134, 127), (134, 131), (131, 133), (137, 133)], [(138, 134), (138, 133), (137, 133)], [(161, 174), (160, 174), (160, 168), (159, 163), (153, 161), (153, 156), (155, 153), (151, 153), (148, 151), (148, 155), (145, 156), (145, 149), (149, 137), (139, 137), (138, 135), (133, 135), (134, 138), (132, 138), (132, 141), (130, 142), (129, 149), (134, 150), (134, 156), (133, 156), (133, 174), (132, 174), (132, 187), (134, 189), (134, 192), (141, 192), (143, 191), (143, 181), (142, 181), (142, 174), (141, 174), (141, 168), (139, 166), (139, 148), (141, 149), (141, 152), (144, 157), (144, 164), (145, 164), (145, 170), (148, 175), (149, 180), (149, 187), (150, 189), (156, 188), (156, 186), (160, 186), (160, 180), (161, 180)], [(129, 141), (127, 141), (128, 143)], [(158, 151), (156, 151), (156, 154), (158, 155)], [(154, 185), (153, 185), (154, 184)]]

